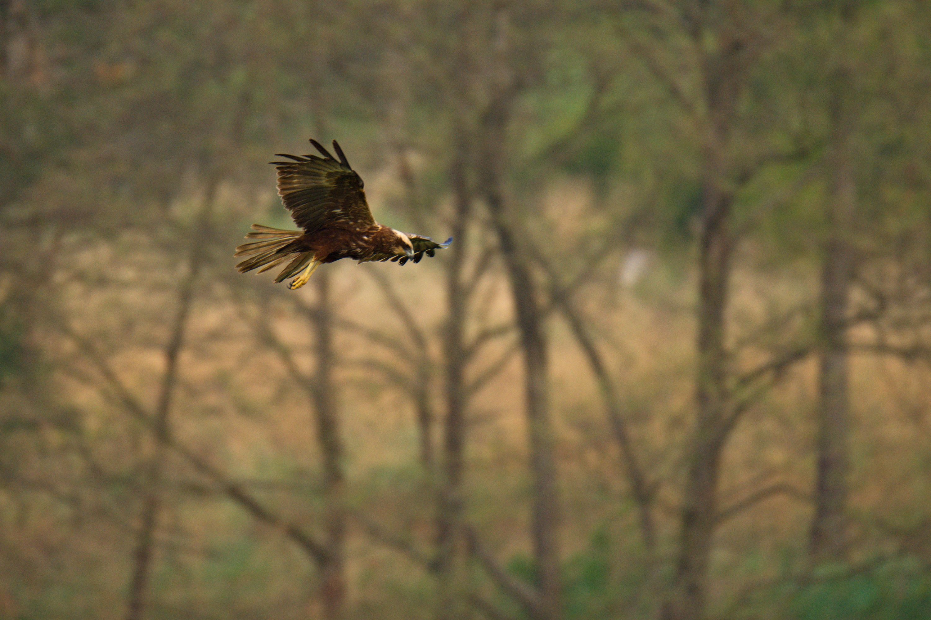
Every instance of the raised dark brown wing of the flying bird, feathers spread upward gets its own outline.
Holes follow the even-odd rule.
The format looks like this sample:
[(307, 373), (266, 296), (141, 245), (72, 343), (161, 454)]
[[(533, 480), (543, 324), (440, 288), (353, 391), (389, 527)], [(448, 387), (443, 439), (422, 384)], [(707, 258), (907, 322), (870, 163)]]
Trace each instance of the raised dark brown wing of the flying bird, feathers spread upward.
[(294, 223), (305, 233), (321, 228), (361, 230), (374, 224), (362, 179), (349, 167), (340, 145), (333, 141), (337, 160), (316, 140), (310, 143), (324, 156), (277, 154), (293, 161), (271, 162), (278, 171), (278, 195)]

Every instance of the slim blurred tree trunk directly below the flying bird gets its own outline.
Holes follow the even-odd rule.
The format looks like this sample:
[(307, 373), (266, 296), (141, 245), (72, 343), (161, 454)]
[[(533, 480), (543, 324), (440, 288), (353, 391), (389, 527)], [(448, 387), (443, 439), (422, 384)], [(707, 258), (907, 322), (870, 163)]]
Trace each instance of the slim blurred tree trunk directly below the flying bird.
[(336, 388), (333, 383), (333, 320), (330, 276), (317, 274), (317, 311), (314, 332), (317, 340), (317, 371), (314, 376), (314, 411), (317, 441), (323, 459), (323, 487), (328, 553), (319, 562), (321, 599), (325, 620), (340, 620), (345, 607), (345, 509), (343, 441), (340, 438)]

